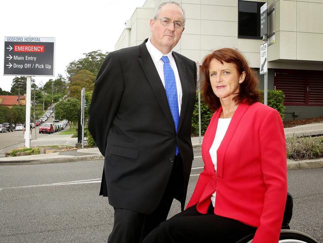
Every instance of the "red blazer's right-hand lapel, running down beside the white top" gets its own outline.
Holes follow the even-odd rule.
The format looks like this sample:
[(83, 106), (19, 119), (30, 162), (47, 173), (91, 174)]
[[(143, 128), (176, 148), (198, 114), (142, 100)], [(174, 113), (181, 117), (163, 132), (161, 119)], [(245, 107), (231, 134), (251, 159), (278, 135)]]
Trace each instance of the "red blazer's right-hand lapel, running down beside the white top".
[[(228, 146), (231, 142), (233, 135), (235, 134), (237, 127), (242, 119), (245, 111), (249, 106), (246, 104), (239, 104), (235, 114), (233, 115), (231, 122), (229, 124), (228, 130), (217, 150), (217, 176), (223, 177), (223, 163), (224, 163), (224, 156), (228, 149)], [(221, 114), (221, 112), (220, 112)], [(219, 114), (219, 116), (220, 116)], [(215, 133), (214, 133), (215, 135)], [(212, 144), (211, 144), (212, 145)]]

